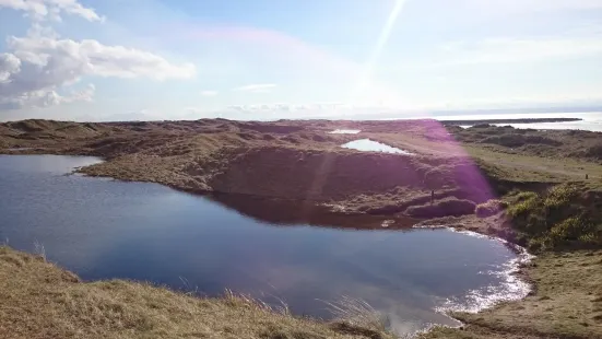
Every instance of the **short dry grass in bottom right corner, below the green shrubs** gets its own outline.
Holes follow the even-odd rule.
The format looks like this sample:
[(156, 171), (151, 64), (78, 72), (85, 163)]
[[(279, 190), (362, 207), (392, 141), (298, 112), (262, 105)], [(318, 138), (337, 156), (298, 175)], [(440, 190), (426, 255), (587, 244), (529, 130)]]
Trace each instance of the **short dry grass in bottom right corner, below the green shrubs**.
[(456, 313), (460, 329), (434, 328), (438, 338), (602, 338), (602, 250), (546, 253), (524, 269), (535, 291), (477, 314)]

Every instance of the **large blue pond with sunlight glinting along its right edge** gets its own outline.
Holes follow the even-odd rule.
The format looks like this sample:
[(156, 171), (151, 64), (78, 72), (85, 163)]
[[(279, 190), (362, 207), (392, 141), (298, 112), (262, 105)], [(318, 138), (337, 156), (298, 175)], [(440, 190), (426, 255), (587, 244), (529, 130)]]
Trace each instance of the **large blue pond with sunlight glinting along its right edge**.
[(298, 315), (330, 318), (327, 302), (361, 299), (399, 332), (456, 325), (436, 311), (442, 306), (479, 307), (527, 292), (508, 274), (517, 256), (494, 239), (275, 223), (261, 217), (270, 213), (265, 204), (250, 218), (228, 199), (66, 175), (95, 162), (0, 156), (0, 239), (28, 252), (43, 244), (49, 260), (85, 280), (144, 280), (205, 295), (231, 289), (282, 300)]

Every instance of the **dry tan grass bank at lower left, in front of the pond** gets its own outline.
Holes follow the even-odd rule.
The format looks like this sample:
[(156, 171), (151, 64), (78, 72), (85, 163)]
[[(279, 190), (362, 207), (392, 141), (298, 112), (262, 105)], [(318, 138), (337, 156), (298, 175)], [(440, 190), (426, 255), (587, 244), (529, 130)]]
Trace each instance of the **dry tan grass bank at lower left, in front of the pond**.
[(0, 338), (388, 338), (240, 296), (198, 299), (129, 281), (84, 283), (40, 257), (0, 247)]

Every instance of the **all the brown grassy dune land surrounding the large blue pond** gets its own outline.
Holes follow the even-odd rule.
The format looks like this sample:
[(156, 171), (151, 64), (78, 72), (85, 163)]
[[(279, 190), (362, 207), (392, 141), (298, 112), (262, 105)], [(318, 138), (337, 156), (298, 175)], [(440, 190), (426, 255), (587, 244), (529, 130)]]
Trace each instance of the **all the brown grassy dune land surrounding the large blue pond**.
[[(334, 129), (362, 131), (328, 133)], [(340, 149), (367, 138), (415, 155)], [(602, 338), (601, 150), (597, 132), (462, 129), (434, 120), (0, 124), (0, 153), (104, 157), (81, 170), (88, 175), (303, 201), (362, 218), (417, 218), (421, 225), (500, 236), (538, 255), (521, 271), (534, 284), (532, 295), (455, 314), (462, 329), (435, 328), (424, 338)], [(293, 218), (225, 203), (253, 218)], [(198, 300), (131, 282), (80, 283), (5, 248), (0, 264), (0, 337), (383, 336), (296, 319), (232, 296)]]

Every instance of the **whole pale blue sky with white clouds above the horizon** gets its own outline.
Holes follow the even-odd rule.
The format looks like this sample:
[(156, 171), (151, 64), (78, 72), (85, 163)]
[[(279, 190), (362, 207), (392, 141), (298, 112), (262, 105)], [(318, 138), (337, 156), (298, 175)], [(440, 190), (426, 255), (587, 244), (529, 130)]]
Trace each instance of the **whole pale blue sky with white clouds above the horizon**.
[(602, 0), (0, 0), (0, 120), (602, 104)]

